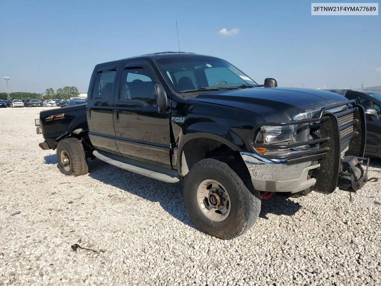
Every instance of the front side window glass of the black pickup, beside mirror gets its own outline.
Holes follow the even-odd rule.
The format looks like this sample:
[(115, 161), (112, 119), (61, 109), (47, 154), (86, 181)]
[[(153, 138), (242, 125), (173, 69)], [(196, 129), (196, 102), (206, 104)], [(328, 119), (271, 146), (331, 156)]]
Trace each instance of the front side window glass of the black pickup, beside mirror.
[(122, 100), (140, 101), (143, 106), (155, 103), (154, 81), (151, 72), (143, 67), (127, 68), (120, 93)]

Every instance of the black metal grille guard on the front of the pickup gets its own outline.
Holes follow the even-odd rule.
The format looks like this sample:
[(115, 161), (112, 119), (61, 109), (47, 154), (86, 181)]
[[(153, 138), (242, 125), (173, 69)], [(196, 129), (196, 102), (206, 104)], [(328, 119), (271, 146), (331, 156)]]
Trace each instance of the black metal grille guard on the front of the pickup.
[[(343, 105), (348, 105), (349, 108), (336, 113), (327, 112), (327, 110), (337, 108)], [(353, 120), (339, 126), (338, 118), (351, 113), (354, 114)], [(317, 161), (326, 157), (327, 155), (334, 156), (335, 159), (338, 157), (340, 161), (340, 154), (342, 151), (343, 143), (348, 140), (351, 140), (349, 144), (349, 149), (346, 152), (346, 154), (356, 157), (364, 156), (366, 140), (365, 111), (362, 106), (356, 104), (355, 100), (343, 101), (340, 103), (324, 106), (322, 109), (320, 109), (317, 117), (283, 122), (263, 122), (261, 125), (259, 125), (253, 130), (257, 132), (257, 130), (259, 130), (263, 126), (287, 126), (311, 122), (320, 122), (321, 124), (319, 139), (283, 145), (251, 143), (251, 146), (253, 147), (252, 149), (260, 157), (269, 160), (285, 160), (288, 165), (306, 161)], [(351, 126), (354, 126), (353, 133), (349, 134), (344, 138), (340, 138), (340, 131)], [(254, 139), (255, 136), (251, 138)], [(251, 140), (251, 142), (254, 142), (254, 140)], [(320, 144), (319, 149), (290, 151), (290, 153), (288, 154), (279, 155), (259, 153), (256, 149), (258, 147), (269, 149), (290, 149), (299, 146), (306, 146), (318, 143)]]

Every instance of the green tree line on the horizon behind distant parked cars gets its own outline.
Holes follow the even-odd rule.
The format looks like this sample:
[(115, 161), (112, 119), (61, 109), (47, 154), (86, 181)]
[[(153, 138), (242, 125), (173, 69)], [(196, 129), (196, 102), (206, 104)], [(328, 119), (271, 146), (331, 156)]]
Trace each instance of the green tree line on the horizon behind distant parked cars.
[[(53, 88), (46, 88), (45, 93), (32, 93), (32, 92), (10, 92), (11, 99), (27, 99), (27, 98), (45, 98), (45, 99), (69, 99), (70, 97), (79, 96), (78, 88), (76, 87), (63, 87), (58, 88), (54, 92)], [(7, 100), (6, 92), (0, 92), (0, 99)]]

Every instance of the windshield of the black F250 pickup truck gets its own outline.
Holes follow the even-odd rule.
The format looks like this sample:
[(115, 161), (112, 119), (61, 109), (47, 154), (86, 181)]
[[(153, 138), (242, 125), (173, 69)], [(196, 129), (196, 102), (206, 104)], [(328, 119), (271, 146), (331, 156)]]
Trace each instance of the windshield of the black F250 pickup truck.
[(199, 88), (227, 88), (257, 85), (227, 61), (210, 57), (176, 57), (156, 60), (176, 92)]

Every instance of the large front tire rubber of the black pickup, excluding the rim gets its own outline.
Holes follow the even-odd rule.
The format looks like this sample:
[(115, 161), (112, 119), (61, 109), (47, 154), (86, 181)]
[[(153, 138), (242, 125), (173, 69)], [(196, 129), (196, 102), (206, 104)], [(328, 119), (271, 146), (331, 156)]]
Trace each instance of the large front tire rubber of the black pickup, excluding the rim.
[[(232, 239), (245, 233), (254, 225), (261, 210), (260, 192), (253, 188), (247, 170), (243, 169), (246, 166), (232, 160), (227, 163), (212, 158), (196, 163), (185, 177), (183, 192), (185, 206), (195, 225), (220, 239)], [(229, 194), (231, 210), (222, 221), (209, 219), (199, 207), (197, 190), (205, 180), (216, 180)]]

